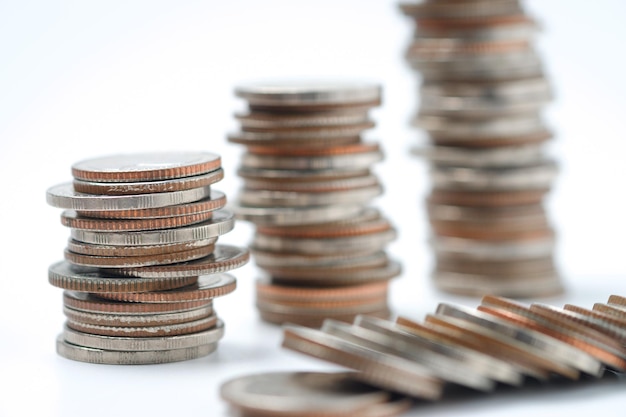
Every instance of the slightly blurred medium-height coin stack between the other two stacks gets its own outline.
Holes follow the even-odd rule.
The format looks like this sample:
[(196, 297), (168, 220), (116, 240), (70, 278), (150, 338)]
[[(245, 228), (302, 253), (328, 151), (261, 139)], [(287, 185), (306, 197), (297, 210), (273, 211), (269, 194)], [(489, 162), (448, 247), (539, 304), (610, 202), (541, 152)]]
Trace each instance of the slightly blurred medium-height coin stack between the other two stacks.
[(250, 245), (266, 276), (256, 283), (261, 318), (319, 326), (326, 317), (389, 315), (388, 282), (400, 273), (385, 246), (391, 223), (368, 204), (382, 193), (371, 167), (378, 85), (283, 83), (238, 87), (245, 145), (235, 213), (256, 226)]

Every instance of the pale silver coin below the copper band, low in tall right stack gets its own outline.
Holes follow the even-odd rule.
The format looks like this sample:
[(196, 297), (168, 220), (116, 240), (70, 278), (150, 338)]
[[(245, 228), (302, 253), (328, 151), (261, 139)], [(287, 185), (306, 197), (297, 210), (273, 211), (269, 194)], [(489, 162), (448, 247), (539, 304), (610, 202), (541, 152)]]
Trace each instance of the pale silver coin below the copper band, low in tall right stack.
[(529, 241), (483, 242), (474, 239), (433, 237), (430, 240), (437, 253), (474, 259), (528, 259), (550, 256), (555, 247), (554, 237)]

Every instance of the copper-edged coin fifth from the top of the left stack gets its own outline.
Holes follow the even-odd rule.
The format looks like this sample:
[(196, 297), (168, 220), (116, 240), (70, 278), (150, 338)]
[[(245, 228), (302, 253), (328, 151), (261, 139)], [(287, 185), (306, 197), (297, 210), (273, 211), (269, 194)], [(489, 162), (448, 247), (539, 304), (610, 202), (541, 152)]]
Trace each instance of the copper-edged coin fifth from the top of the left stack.
[(94, 231), (142, 231), (157, 229), (173, 229), (176, 227), (190, 226), (209, 220), (213, 212), (189, 214), (177, 217), (161, 217), (152, 219), (102, 219), (78, 214), (74, 210), (65, 210), (61, 214), (61, 224), (66, 227), (81, 230)]

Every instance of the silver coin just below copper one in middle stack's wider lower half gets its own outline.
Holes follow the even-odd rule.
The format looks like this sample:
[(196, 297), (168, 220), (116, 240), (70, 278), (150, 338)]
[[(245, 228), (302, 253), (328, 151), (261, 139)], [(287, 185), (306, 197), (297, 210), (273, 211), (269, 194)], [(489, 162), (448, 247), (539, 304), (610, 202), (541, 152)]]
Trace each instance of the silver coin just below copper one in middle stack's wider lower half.
[(394, 229), (361, 236), (323, 239), (286, 238), (256, 233), (252, 239), (251, 247), (266, 251), (323, 255), (336, 252), (349, 253), (383, 250), (396, 237), (397, 232)]

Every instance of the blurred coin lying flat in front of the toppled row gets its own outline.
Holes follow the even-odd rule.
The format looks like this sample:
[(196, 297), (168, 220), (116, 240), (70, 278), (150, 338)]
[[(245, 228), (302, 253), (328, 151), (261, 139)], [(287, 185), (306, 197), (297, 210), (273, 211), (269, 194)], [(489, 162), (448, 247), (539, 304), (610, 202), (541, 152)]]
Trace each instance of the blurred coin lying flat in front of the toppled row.
[(361, 415), (391, 399), (353, 372), (271, 372), (230, 379), (220, 396), (246, 415), (343, 417)]

